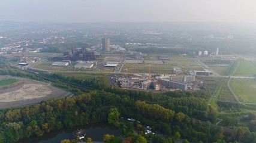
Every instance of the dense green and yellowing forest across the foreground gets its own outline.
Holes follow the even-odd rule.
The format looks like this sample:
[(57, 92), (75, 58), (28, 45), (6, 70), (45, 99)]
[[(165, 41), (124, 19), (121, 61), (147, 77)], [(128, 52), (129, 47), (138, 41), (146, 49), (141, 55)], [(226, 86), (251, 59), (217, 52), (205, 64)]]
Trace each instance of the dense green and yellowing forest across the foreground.
[[(46, 80), (36, 74), (11, 69), (7, 65), (2, 65), (0, 73)], [(72, 98), (54, 98), (36, 105), (0, 110), (0, 142), (17, 142), (30, 136), (42, 136), (51, 130), (89, 123), (116, 123), (119, 119), (112, 117), (117, 112), (116, 117), (133, 118), (140, 123), (128, 122), (122, 125), (124, 141), (106, 135), (105, 142), (173, 142), (173, 139), (180, 138), (190, 142), (256, 142), (256, 132), (246, 127), (230, 129), (213, 125), (218, 114), (207, 104), (209, 95), (204, 92), (174, 91), (154, 94), (104, 87), (104, 82), (94, 85), (90, 78), (87, 81), (61, 74), (50, 76), (55, 78), (56, 86), (60, 85), (60, 80), (65, 79), (68, 82), (88, 85), (97, 91), (79, 91)], [(65, 86), (75, 88), (68, 84)], [(143, 126), (151, 126), (166, 135), (166, 138), (145, 135)], [(138, 135), (131, 129), (138, 130)]]

